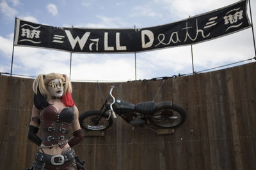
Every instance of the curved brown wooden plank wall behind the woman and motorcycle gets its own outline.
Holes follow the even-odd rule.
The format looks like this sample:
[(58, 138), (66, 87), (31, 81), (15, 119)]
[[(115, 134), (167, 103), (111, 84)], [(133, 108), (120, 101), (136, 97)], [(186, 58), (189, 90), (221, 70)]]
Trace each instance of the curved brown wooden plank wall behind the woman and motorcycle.
[[(87, 170), (256, 169), (256, 62), (165, 80), (158, 101), (186, 110), (174, 134), (132, 130), (118, 117), (104, 136), (74, 146)], [(152, 101), (163, 80), (116, 83), (114, 96)], [(0, 169), (30, 167), (36, 152), (26, 133), (33, 105), (32, 79), (0, 76)], [(112, 83), (72, 82), (80, 114), (97, 110)], [(41, 134), (41, 132), (40, 132)]]

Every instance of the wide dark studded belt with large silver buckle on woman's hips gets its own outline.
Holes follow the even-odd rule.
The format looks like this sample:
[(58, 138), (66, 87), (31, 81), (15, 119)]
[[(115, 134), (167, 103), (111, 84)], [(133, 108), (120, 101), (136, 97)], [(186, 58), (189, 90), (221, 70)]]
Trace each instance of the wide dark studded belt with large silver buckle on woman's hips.
[(45, 153), (36, 152), (35, 160), (44, 162), (45, 164), (49, 164), (52, 166), (61, 166), (65, 162), (68, 162), (76, 156), (75, 151), (71, 148), (64, 155), (47, 155)]

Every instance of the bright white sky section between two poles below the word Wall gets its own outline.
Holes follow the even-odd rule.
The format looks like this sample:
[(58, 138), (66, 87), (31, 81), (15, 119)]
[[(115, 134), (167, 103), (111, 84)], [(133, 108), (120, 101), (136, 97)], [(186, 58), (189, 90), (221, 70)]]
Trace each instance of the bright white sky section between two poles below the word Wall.
[[(120, 55), (118, 55), (120, 56)], [(117, 55), (72, 55), (72, 80), (134, 80), (134, 60)]]

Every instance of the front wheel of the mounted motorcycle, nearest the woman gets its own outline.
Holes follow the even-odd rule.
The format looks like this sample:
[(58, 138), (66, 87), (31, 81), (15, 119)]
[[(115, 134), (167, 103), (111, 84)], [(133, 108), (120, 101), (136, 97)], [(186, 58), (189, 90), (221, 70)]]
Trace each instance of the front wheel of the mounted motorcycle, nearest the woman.
[(99, 110), (86, 111), (79, 116), (79, 123), (88, 131), (103, 131), (113, 124), (113, 119), (106, 113), (100, 118), (102, 114), (103, 112)]

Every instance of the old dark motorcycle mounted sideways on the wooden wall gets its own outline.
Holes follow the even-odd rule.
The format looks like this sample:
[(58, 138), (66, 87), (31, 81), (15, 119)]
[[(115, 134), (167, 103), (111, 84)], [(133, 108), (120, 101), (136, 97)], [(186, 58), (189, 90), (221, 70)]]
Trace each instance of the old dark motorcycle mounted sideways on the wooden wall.
[[(124, 118), (133, 127), (148, 127), (152, 124), (160, 129), (179, 127), (186, 120), (184, 109), (172, 103), (163, 101), (156, 103), (148, 101), (132, 104), (123, 100), (115, 100), (111, 86), (109, 97), (100, 110), (86, 111), (79, 116), (79, 123), (88, 131), (103, 131), (113, 124), (116, 114)], [(112, 117), (111, 117), (112, 115)]]

